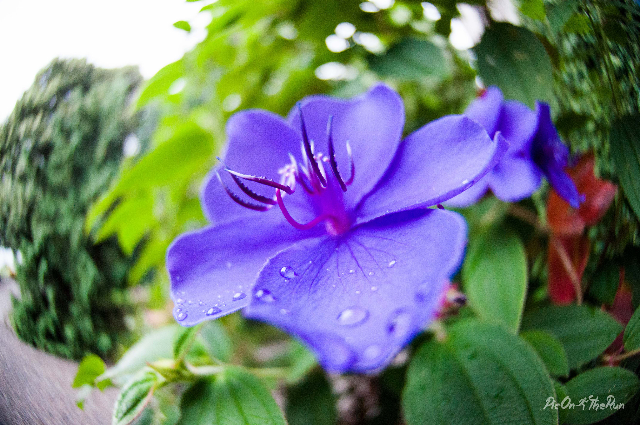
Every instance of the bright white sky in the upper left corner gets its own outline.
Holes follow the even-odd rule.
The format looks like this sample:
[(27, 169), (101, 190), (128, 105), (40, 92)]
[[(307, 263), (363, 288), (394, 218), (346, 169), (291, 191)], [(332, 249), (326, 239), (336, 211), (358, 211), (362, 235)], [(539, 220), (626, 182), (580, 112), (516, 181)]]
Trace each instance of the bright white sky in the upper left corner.
[[(56, 57), (87, 58), (103, 68), (138, 65), (145, 78), (153, 76), (200, 41), (207, 22), (198, 11), (207, 3), (0, 0), (0, 122)], [(177, 20), (200, 31), (188, 35), (173, 27)]]

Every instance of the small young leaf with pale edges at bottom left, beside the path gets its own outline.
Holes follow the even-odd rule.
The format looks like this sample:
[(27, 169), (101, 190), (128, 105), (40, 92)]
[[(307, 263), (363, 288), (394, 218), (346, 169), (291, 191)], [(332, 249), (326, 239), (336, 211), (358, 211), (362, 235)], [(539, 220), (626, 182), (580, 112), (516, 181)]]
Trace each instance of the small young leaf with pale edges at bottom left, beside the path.
[(113, 406), (111, 423), (113, 425), (131, 424), (145, 410), (157, 382), (157, 374), (144, 369), (127, 382)]

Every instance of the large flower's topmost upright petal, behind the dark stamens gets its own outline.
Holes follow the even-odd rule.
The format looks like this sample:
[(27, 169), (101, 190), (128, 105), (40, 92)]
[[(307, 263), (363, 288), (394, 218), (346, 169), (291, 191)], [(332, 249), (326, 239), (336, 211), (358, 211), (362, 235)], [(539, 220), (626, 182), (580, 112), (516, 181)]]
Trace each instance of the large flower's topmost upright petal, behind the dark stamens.
[[(349, 178), (349, 141), (355, 164), (355, 179), (344, 193), (346, 208), (352, 209), (382, 177), (402, 137), (404, 104), (385, 84), (376, 84), (363, 95), (344, 100), (310, 96), (301, 100), (301, 109), (314, 152), (328, 153), (326, 136), (329, 115), (333, 115), (333, 145), (342, 177)], [(289, 124), (301, 131), (300, 113), (291, 110)]]

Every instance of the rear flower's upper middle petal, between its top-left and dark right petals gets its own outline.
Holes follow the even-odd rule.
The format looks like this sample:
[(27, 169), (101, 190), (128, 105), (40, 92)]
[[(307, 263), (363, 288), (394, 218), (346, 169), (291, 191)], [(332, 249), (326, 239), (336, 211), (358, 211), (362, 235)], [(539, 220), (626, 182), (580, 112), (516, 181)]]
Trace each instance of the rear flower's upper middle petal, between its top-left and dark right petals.
[(511, 145), (508, 154), (527, 152), (527, 155), (529, 155), (531, 140), (537, 126), (538, 117), (536, 113), (525, 104), (516, 100), (507, 100), (502, 104), (498, 130)]

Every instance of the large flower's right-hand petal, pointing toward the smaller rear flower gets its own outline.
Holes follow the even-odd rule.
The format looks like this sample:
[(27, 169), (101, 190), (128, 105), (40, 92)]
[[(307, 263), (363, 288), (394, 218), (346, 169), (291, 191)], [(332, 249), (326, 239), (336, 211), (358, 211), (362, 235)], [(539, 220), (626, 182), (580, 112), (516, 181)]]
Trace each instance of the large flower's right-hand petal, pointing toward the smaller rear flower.
[(449, 115), (407, 136), (393, 163), (365, 198), (356, 221), (387, 212), (435, 205), (472, 187), (509, 147), (499, 132), (492, 141), (465, 115)]

